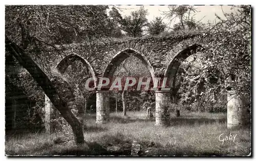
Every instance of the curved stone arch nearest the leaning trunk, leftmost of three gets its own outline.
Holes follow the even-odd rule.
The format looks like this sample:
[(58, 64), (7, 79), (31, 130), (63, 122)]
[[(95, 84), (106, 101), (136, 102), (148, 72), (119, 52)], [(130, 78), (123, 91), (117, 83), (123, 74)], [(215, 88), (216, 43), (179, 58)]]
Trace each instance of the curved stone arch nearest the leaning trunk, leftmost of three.
[(66, 57), (64, 57), (63, 59), (61, 59), (61, 61), (57, 64), (56, 69), (63, 74), (68, 66), (73, 63), (74, 61), (81, 61), (83, 65), (85, 65), (86, 67), (88, 67), (89, 71), (91, 72), (93, 79), (94, 79), (94, 87), (96, 87), (97, 84), (97, 78), (95, 76), (95, 72), (93, 70), (93, 67), (91, 66), (91, 64), (87, 61), (86, 58), (76, 54), (76, 53), (71, 53), (69, 55), (67, 55)]

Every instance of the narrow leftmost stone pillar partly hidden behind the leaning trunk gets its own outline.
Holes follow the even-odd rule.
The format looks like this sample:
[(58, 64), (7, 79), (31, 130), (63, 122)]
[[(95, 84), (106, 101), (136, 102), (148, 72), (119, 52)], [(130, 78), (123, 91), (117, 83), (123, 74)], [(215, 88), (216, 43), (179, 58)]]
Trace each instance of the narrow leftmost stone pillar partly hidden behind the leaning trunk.
[(46, 133), (51, 133), (53, 131), (51, 125), (51, 109), (53, 108), (53, 104), (51, 100), (45, 95), (45, 129)]

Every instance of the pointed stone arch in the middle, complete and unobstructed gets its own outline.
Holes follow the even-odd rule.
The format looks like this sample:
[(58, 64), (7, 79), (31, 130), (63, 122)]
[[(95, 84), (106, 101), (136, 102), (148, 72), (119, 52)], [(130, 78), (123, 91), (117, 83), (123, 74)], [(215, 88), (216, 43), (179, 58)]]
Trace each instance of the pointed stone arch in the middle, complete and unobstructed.
[(116, 55), (114, 55), (111, 59), (111, 62), (108, 64), (108, 66), (105, 68), (102, 77), (111, 77), (113, 76), (116, 68), (118, 65), (120, 65), (126, 58), (130, 56), (136, 56), (139, 58), (142, 63), (147, 67), (147, 69), (150, 71), (151, 77), (153, 79), (153, 82), (155, 81), (155, 70), (153, 66), (151, 65), (150, 61), (146, 58), (145, 55), (140, 53), (137, 50), (134, 50), (132, 48), (126, 48), (120, 52), (118, 52)]

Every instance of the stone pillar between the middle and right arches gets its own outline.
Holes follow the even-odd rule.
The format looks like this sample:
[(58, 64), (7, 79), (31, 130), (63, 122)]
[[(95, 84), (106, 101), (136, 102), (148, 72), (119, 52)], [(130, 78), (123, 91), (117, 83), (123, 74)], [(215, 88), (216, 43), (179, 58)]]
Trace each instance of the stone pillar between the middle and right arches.
[(170, 91), (156, 91), (156, 125), (168, 126), (170, 124)]

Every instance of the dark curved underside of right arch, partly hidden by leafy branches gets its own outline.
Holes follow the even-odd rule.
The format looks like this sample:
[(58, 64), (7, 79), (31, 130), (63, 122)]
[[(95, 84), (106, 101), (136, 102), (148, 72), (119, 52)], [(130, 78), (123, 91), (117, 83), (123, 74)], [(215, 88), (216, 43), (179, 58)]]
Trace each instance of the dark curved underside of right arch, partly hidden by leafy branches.
[(201, 45), (198, 45), (198, 44), (191, 45), (191, 46), (187, 47), (186, 49), (177, 53), (174, 56), (174, 58), (172, 59), (172, 61), (170, 61), (167, 69), (164, 72), (164, 77), (167, 77), (166, 86), (170, 87), (171, 90), (175, 86), (176, 73), (179, 69), (180, 64), (183, 61), (185, 61), (185, 59), (188, 56), (195, 54), (198, 51), (198, 49), (200, 49), (200, 48), (202, 48)]

